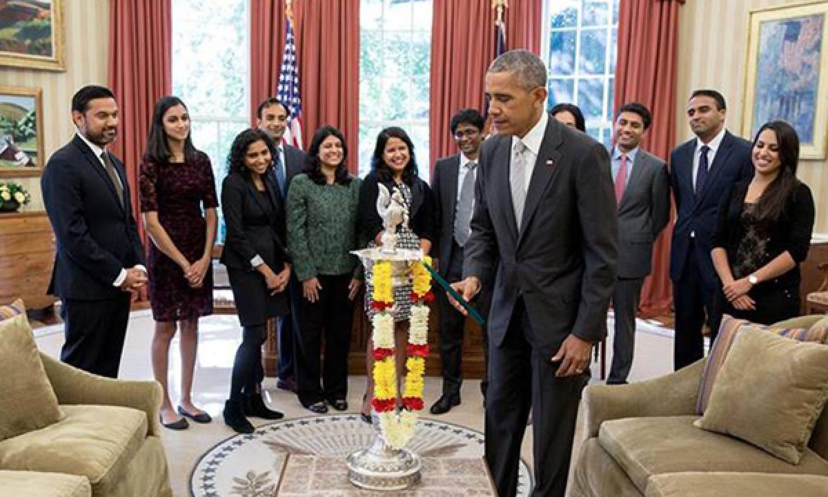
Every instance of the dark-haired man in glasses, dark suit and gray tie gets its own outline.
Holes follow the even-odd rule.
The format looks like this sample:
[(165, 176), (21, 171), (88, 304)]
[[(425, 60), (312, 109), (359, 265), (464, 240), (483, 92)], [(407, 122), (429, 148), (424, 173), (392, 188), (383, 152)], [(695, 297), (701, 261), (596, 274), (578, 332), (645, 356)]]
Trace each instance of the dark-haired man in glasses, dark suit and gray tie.
[[(483, 116), (474, 109), (462, 109), (455, 113), (450, 128), (460, 153), (438, 160), (431, 179), (431, 191), (434, 192), (435, 207), (440, 216), (437, 245), (439, 270), (450, 283), (458, 282), (463, 277), (463, 247), (471, 234), (474, 181), (485, 124)], [(437, 293), (437, 302), (440, 306), (443, 393), (431, 406), (431, 414), (448, 413), (452, 407), (460, 405), (460, 385), (463, 383), (461, 363), (465, 316), (450, 304), (445, 292)], [(485, 306), (485, 302), (480, 304)], [(485, 395), (485, 379), (480, 383), (480, 388)]]

